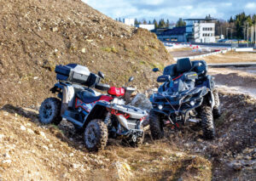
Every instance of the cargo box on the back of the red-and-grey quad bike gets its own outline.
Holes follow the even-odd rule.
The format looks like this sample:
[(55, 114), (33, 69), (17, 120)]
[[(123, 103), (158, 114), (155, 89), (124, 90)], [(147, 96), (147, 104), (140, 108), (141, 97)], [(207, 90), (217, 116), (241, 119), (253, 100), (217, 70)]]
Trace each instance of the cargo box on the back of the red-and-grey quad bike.
[(56, 65), (56, 79), (59, 81), (67, 81), (79, 83), (89, 86), (90, 71), (87, 67), (77, 64)]

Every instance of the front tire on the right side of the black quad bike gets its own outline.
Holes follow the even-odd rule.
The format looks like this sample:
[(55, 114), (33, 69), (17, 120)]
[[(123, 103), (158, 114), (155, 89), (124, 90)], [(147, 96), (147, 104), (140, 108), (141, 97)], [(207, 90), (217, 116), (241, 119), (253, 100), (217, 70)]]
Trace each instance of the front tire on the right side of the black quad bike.
[(201, 128), (205, 139), (213, 139), (215, 137), (215, 127), (210, 106), (203, 105), (201, 107)]

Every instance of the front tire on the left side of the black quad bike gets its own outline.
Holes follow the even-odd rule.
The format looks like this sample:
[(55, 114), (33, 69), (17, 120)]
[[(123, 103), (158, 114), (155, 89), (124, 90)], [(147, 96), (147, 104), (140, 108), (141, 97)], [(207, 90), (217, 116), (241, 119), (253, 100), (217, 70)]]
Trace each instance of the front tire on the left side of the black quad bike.
[(149, 128), (152, 139), (162, 139), (164, 137), (164, 127), (160, 123), (160, 117), (152, 110), (149, 112)]

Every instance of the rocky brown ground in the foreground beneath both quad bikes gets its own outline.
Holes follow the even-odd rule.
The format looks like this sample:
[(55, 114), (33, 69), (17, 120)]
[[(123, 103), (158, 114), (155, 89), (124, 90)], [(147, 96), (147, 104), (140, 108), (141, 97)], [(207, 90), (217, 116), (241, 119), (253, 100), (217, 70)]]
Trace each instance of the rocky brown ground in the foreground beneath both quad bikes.
[(88, 153), (67, 122), (44, 126), (38, 110), (4, 105), (0, 179), (254, 180), (256, 99), (221, 92), (220, 100), (222, 116), (212, 141), (202, 139), (200, 127), (182, 127), (160, 141), (146, 131), (139, 148), (111, 139), (99, 153)]

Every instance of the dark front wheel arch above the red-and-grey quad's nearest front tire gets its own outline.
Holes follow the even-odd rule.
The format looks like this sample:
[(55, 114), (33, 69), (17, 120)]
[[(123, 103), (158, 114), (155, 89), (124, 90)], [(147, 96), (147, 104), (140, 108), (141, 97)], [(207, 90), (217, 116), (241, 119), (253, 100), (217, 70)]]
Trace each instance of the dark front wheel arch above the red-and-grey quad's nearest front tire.
[(103, 121), (108, 113), (107, 107), (108, 105), (106, 103), (97, 102), (92, 110), (90, 110), (90, 113), (84, 118), (83, 128), (85, 128), (91, 120), (101, 119)]

